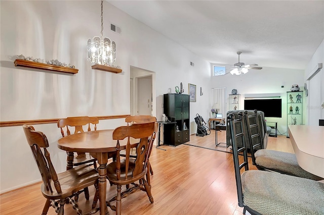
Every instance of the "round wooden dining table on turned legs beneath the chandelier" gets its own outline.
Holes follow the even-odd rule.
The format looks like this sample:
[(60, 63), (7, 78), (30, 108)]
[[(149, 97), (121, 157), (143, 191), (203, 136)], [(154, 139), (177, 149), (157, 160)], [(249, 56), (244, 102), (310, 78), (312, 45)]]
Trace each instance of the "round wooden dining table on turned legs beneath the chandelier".
[[(57, 141), (58, 148), (67, 152), (90, 152), (97, 158), (99, 168), (99, 204), (100, 215), (105, 215), (106, 206), (106, 188), (107, 188), (107, 162), (108, 153), (116, 151), (117, 140), (112, 139), (111, 130), (88, 131), (65, 136)], [(127, 138), (119, 141), (120, 150), (126, 148)]]

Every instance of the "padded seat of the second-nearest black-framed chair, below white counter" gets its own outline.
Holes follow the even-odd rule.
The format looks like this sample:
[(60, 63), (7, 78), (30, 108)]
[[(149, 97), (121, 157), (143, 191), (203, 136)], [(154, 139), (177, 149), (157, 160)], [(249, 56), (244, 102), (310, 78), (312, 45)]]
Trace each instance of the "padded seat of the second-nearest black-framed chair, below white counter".
[(302, 169), (298, 165), (296, 155), (293, 153), (259, 149), (255, 152), (255, 159), (256, 165), (261, 168), (315, 181), (323, 180), (323, 178)]

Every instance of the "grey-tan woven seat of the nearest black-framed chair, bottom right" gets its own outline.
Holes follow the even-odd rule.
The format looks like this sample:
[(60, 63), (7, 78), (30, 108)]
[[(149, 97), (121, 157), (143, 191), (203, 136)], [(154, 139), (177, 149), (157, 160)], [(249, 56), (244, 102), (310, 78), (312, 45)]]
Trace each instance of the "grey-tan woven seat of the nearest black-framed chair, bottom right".
[(324, 214), (324, 184), (266, 171), (241, 175), (244, 203), (261, 214)]

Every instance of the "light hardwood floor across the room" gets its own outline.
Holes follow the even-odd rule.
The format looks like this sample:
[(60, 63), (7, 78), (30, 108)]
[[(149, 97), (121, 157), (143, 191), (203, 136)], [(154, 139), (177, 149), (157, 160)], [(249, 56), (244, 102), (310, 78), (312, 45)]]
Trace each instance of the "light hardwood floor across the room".
[[(218, 135), (220, 142), (226, 141), (226, 132), (219, 132)], [(205, 137), (191, 135), (189, 143), (216, 148), (215, 130)], [(232, 154), (196, 146), (160, 146), (166, 151), (154, 147), (150, 157), (154, 171), (151, 176), (154, 203), (150, 203), (145, 192), (137, 191), (122, 199), (122, 213), (242, 214), (242, 208), (237, 205)], [(269, 137), (267, 148), (293, 152), (290, 139), (286, 136)], [(249, 167), (256, 170), (251, 159)], [(2, 194), (0, 214), (41, 214), (45, 198), (40, 186), (41, 183), (37, 183)], [(107, 199), (115, 193), (115, 186), (108, 187)], [(78, 204), (83, 212), (91, 208), (93, 187), (90, 187), (90, 194), (90, 201), (85, 200), (84, 194), (79, 196)], [(71, 205), (65, 205), (64, 209), (65, 214), (76, 214)], [(110, 208), (108, 210), (110, 214), (115, 214)], [(48, 214), (56, 214), (54, 208), (50, 207)]]

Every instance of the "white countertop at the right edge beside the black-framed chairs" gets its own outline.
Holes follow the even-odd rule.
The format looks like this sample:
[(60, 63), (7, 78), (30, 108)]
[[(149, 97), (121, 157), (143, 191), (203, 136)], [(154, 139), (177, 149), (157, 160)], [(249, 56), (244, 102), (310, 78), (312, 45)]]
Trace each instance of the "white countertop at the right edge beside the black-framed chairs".
[(289, 125), (288, 133), (299, 166), (324, 178), (324, 127)]

